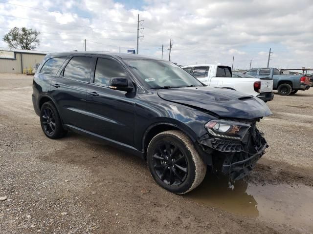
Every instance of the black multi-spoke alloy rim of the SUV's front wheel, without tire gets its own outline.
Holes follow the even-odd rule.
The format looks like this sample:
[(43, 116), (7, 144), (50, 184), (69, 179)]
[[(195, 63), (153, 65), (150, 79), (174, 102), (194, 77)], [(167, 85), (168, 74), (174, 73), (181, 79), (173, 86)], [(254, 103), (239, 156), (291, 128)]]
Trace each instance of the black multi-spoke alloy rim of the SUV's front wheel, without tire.
[(165, 184), (180, 185), (188, 175), (188, 162), (179, 146), (171, 142), (160, 142), (153, 153), (156, 175)]

